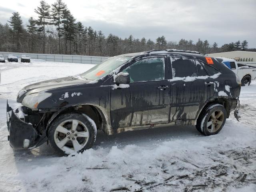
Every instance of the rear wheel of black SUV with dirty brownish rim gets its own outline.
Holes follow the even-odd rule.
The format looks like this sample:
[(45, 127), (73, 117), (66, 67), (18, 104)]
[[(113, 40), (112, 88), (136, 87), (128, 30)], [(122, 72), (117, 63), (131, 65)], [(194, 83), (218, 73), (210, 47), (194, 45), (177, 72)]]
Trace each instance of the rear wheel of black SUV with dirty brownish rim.
[(204, 109), (197, 122), (196, 129), (205, 136), (215, 135), (222, 130), (227, 118), (223, 105), (212, 104)]

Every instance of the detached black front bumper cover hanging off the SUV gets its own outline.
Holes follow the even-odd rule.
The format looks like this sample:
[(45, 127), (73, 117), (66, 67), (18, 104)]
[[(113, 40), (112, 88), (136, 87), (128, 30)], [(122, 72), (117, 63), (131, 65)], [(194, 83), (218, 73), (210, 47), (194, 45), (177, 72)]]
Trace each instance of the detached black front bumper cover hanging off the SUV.
[(18, 118), (13, 109), (6, 106), (7, 128), (9, 131), (8, 140), (13, 149), (32, 149), (40, 146), (48, 140), (46, 133), (40, 134), (31, 123)]

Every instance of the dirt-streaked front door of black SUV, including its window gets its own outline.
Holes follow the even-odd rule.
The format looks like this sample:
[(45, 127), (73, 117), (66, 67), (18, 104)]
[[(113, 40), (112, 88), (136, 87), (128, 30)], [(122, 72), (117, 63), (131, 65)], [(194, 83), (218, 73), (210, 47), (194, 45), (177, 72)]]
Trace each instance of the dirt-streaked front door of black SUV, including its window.
[[(122, 72), (130, 74), (126, 88), (111, 89), (111, 122), (113, 128), (168, 123), (170, 82), (164, 56), (137, 60)], [(113, 83), (114, 84), (114, 83)]]

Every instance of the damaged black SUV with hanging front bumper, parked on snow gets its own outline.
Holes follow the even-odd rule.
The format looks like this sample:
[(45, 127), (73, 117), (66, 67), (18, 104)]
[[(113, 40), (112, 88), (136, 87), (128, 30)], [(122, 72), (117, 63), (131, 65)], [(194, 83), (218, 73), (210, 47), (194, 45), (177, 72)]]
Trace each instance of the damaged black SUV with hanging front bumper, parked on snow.
[(199, 52), (152, 50), (123, 54), (78, 75), (24, 87), (15, 111), (7, 103), (10, 145), (48, 141), (58, 154), (92, 146), (106, 134), (195, 125), (217, 134), (238, 105), (241, 82), (216, 58)]

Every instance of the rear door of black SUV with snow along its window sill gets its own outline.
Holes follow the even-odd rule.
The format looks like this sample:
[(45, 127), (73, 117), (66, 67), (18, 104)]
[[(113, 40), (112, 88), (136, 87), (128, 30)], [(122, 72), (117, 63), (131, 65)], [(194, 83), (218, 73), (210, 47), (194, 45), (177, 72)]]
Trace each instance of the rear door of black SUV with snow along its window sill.
[(208, 74), (198, 60), (185, 57), (170, 59), (170, 122), (195, 120), (198, 111), (210, 96), (210, 90), (205, 84)]

